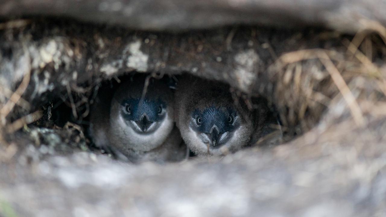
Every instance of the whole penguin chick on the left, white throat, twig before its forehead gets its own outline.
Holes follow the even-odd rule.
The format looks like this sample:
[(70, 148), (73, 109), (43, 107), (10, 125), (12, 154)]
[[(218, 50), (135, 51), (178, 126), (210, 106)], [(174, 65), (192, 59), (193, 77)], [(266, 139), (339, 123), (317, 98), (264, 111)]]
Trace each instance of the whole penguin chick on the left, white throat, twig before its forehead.
[(91, 108), (90, 133), (99, 147), (108, 147), (132, 162), (180, 161), (187, 148), (174, 124), (173, 93), (151, 78), (136, 75), (115, 92), (100, 90)]

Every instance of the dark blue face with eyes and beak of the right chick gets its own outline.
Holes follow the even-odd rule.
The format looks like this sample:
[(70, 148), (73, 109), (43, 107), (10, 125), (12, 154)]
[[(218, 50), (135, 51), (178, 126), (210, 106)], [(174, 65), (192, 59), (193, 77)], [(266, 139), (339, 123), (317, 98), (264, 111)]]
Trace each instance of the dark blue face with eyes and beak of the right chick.
[(191, 129), (212, 149), (226, 144), (239, 125), (239, 116), (233, 108), (214, 105), (194, 110), (190, 121)]

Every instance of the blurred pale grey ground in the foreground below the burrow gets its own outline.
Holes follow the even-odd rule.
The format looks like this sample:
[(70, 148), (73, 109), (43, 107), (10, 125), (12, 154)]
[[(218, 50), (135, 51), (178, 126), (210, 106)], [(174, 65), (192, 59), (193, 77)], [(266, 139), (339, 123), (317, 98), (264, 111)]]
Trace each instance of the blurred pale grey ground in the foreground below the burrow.
[[(30, 164), (19, 158), (0, 166), (0, 213), (11, 207), (18, 216), (40, 217), (384, 216), (386, 147), (357, 142), (360, 136), (326, 136), (332, 139), (165, 165), (86, 152)], [(30, 146), (23, 155), (39, 153)]]

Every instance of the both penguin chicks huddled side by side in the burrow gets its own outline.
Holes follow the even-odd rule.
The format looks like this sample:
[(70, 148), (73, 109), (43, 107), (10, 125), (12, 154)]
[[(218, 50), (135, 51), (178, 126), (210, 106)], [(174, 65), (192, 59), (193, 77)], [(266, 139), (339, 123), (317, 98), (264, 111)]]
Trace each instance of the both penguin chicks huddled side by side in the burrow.
[(114, 93), (98, 94), (90, 120), (97, 146), (133, 162), (179, 161), (186, 157), (185, 144), (197, 155), (221, 155), (258, 137), (264, 109), (256, 115), (242, 101), (235, 103), (228, 85), (181, 76), (173, 97), (168, 85), (155, 79), (143, 94), (145, 81), (137, 75)]

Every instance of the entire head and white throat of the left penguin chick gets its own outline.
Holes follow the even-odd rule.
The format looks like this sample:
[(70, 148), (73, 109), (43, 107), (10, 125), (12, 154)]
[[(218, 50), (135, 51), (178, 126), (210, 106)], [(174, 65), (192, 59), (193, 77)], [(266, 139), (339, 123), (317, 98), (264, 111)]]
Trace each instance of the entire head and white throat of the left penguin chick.
[(122, 153), (159, 147), (174, 126), (173, 93), (166, 83), (145, 77), (119, 85), (110, 109), (110, 133)]

